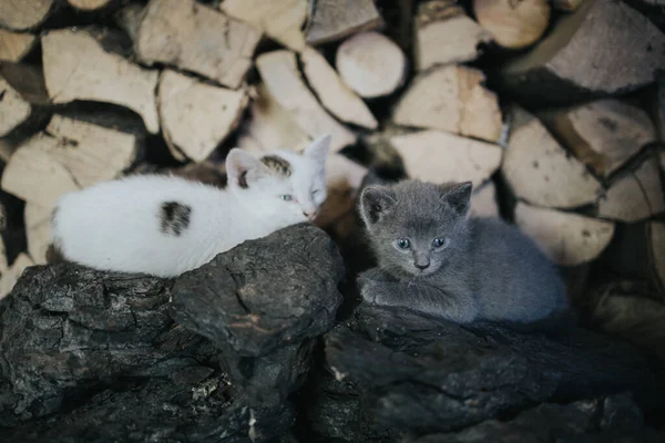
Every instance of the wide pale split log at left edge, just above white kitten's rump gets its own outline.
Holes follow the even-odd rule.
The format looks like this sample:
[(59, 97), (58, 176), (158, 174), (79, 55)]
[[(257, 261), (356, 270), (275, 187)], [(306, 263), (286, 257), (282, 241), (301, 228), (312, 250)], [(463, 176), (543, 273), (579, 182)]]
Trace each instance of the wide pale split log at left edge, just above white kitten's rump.
[(134, 134), (54, 115), (21, 144), (2, 174), (2, 189), (49, 208), (64, 193), (117, 177), (136, 158)]

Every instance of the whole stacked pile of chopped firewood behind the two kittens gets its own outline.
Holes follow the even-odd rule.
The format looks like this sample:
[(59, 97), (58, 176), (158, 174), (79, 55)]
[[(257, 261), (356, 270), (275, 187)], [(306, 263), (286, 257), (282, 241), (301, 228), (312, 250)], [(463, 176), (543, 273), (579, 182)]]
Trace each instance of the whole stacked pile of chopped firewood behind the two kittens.
[[(473, 214), (560, 266), (612, 264), (663, 295), (665, 20), (633, 3), (3, 0), (0, 297), (47, 262), (63, 193), (144, 171), (204, 181), (231, 147), (323, 133), (318, 223), (336, 236), (370, 168), (471, 181)], [(613, 256), (625, 238), (637, 276)]]

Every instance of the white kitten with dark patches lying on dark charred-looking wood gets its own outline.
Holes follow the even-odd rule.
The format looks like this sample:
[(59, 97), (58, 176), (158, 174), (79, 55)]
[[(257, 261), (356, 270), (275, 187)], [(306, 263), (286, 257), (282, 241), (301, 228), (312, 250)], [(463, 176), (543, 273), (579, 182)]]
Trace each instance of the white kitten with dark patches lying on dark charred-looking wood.
[(304, 154), (260, 159), (234, 148), (224, 189), (136, 175), (65, 194), (53, 215), (53, 244), (91, 268), (177, 276), (245, 240), (313, 220), (327, 195), (329, 144), (326, 135)]

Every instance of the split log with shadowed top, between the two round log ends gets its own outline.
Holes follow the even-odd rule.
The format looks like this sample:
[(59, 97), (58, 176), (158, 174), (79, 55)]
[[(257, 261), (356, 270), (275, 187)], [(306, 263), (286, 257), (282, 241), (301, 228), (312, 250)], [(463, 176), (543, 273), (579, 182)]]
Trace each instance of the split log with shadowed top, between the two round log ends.
[(416, 16), (416, 68), (462, 63), (480, 55), (479, 44), (492, 35), (453, 0), (420, 3)]

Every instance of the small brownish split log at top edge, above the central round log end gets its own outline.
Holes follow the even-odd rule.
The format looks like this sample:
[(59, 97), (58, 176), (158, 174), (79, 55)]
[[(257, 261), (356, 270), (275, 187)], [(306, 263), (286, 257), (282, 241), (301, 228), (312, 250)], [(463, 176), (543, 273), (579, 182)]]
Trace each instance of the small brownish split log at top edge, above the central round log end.
[(321, 44), (383, 24), (374, 0), (310, 0), (305, 40)]

